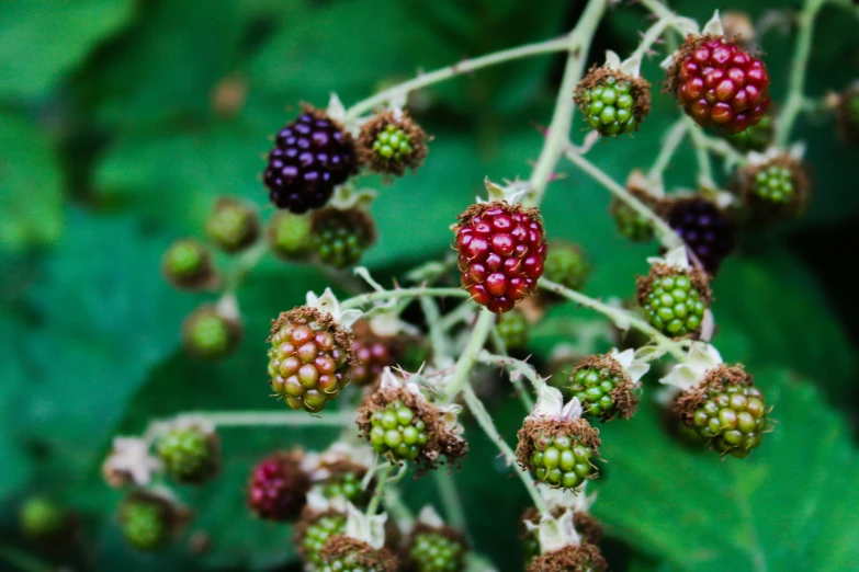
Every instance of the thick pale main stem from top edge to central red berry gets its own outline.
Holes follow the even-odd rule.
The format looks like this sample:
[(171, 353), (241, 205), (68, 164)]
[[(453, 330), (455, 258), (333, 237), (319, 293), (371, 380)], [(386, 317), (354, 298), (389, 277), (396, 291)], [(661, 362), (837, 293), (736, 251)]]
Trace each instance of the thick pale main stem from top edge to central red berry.
[(543, 149), (540, 151), (540, 158), (536, 160), (529, 180), (531, 193), (528, 203), (533, 206), (540, 205), (543, 199), (545, 187), (552, 179), (557, 161), (569, 144), (569, 127), (575, 112), (573, 92), (585, 71), (588, 47), (594, 39), (594, 33), (597, 31), (597, 25), (602, 19), (607, 4), (608, 0), (589, 0), (576, 27), (567, 36), (567, 62), (561, 89), (557, 92), (555, 111), (552, 114), (552, 123), (549, 126)]

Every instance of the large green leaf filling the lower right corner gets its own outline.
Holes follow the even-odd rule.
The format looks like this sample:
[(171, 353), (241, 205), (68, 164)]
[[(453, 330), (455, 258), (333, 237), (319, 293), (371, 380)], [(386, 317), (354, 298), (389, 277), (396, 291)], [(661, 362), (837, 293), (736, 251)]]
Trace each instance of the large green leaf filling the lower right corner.
[(847, 426), (813, 385), (751, 373), (777, 423), (760, 448), (746, 459), (691, 453), (646, 400), (633, 421), (602, 428), (596, 514), (677, 570), (856, 570), (859, 465)]

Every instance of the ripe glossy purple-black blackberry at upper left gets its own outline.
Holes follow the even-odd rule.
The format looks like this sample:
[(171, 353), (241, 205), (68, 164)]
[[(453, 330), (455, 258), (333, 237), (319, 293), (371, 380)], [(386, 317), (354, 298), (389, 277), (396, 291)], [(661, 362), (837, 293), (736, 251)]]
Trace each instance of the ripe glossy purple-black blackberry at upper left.
[(358, 172), (352, 136), (325, 112), (306, 106), (278, 134), (262, 180), (271, 202), (302, 214), (325, 205)]

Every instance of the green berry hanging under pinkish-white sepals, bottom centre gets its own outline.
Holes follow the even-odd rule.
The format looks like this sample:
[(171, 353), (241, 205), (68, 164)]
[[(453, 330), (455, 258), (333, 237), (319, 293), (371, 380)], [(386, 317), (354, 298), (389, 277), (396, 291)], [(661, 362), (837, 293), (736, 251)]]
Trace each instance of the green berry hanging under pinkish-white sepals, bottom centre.
[(529, 416), (518, 436), (520, 464), (552, 488), (575, 489), (598, 473), (599, 432), (584, 419)]

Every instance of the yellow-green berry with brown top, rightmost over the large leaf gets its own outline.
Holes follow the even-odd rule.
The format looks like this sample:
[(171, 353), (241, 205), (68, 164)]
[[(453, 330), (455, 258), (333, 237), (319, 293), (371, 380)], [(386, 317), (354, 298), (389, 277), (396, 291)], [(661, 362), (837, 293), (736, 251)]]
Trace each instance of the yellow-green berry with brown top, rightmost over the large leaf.
[(767, 432), (764, 393), (743, 366), (720, 366), (677, 400), (681, 420), (722, 455), (747, 457)]

